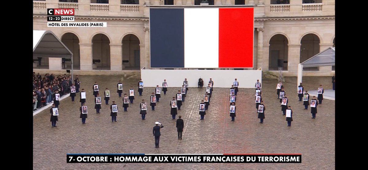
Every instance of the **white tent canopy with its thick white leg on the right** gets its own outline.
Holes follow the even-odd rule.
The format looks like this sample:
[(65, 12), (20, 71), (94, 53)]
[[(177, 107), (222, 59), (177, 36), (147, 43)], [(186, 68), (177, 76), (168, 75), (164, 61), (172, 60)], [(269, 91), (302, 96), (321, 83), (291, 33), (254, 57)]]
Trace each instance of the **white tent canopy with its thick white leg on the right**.
[(335, 65), (335, 47), (329, 47), (313, 57), (298, 64), (298, 84), (302, 82), (303, 67), (319, 67)]

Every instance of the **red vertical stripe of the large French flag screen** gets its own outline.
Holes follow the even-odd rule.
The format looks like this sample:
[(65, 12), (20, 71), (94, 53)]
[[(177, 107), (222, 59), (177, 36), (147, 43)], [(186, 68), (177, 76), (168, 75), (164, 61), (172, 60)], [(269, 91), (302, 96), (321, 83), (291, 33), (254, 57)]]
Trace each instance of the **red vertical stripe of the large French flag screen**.
[(219, 8), (219, 67), (253, 67), (253, 8)]

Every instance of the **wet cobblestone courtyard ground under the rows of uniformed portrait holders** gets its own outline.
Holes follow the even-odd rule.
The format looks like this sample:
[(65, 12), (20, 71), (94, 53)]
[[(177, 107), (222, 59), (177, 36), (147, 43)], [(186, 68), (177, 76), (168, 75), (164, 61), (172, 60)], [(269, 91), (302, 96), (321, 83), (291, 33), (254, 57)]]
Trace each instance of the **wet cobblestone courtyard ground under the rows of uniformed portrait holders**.
[[(220, 80), (213, 80), (215, 88), (205, 120), (199, 120), (198, 111), (205, 88), (189, 88), (185, 102), (178, 110), (184, 120), (183, 140), (177, 138), (176, 120), (171, 119), (169, 106), (180, 88), (168, 88), (167, 95), (161, 94), (155, 111), (148, 107), (146, 120), (141, 120), (139, 103), (145, 99), (149, 104), (154, 88), (144, 88), (143, 96), (138, 96), (138, 79), (79, 77), (79, 90), (84, 88), (87, 95), (86, 124), (79, 118), (79, 93), (75, 102), (70, 98), (60, 102), (56, 128), (51, 127), (49, 109), (33, 116), (33, 169), (335, 169), (335, 101), (323, 100), (323, 104), (317, 106), (316, 119), (311, 119), (310, 107), (303, 110), (302, 102), (298, 101), (296, 77), (285, 78), (283, 83), (289, 106), (293, 109), (291, 127), (287, 127), (276, 98), (277, 80), (262, 81), (266, 106), (263, 124), (259, 123), (256, 113), (254, 89), (239, 89), (237, 117), (233, 122), (229, 116), (231, 82), (229, 88), (216, 88), (216, 82)], [(123, 80), (124, 93), (128, 93), (130, 86), (135, 89), (134, 104), (129, 104), (128, 112), (124, 112), (123, 98), (118, 98), (116, 93), (119, 80)], [(103, 101), (100, 114), (94, 109), (92, 85), (95, 81), (99, 84), (102, 99), (105, 88), (111, 93), (109, 105)], [(303, 78), (305, 90), (316, 90), (319, 84), (332, 89), (330, 77)], [(113, 100), (119, 109), (117, 122), (111, 122), (110, 117)], [(164, 125), (160, 148), (155, 148), (152, 135), (155, 121)], [(66, 163), (67, 153), (301, 153), (302, 163)]]

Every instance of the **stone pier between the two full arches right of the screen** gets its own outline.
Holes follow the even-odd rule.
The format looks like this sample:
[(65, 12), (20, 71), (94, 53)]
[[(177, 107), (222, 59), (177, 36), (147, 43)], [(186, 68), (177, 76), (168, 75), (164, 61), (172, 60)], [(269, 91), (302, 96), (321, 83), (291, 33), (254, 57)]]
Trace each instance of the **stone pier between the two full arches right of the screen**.
[(301, 44), (288, 44), (287, 55), (287, 71), (293, 72), (292, 75), (297, 76), (298, 64), (300, 63), (300, 46)]

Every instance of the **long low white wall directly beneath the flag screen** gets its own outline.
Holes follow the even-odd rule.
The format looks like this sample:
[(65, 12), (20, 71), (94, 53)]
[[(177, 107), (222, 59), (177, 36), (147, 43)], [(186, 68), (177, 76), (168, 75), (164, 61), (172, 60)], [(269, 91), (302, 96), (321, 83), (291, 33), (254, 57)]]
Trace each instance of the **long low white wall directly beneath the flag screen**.
[(145, 87), (162, 87), (164, 79), (168, 87), (181, 87), (187, 78), (189, 87), (198, 87), (198, 79), (203, 78), (203, 86), (212, 78), (213, 87), (231, 88), (236, 78), (238, 88), (254, 88), (259, 79), (262, 83), (261, 70), (141, 70), (141, 78)]

